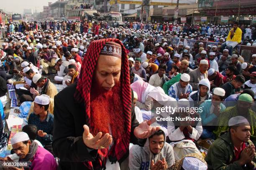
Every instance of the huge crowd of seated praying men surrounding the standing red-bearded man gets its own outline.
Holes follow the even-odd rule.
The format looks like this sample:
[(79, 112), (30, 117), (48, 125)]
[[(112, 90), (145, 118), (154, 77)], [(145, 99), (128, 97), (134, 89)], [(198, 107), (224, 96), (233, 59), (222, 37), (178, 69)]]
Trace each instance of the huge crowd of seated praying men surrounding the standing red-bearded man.
[[(63, 87), (72, 85), (79, 79), (90, 43), (117, 38), (128, 53), (136, 119), (141, 123), (158, 117), (155, 125), (161, 126), (143, 147), (131, 146), (131, 170), (256, 168), (256, 54), (245, 60), (236, 49), (250, 44), (255, 51), (255, 27), (245, 29), (235, 22), (217, 27), (127, 23), (126, 28), (109, 28), (90, 21), (2, 27), (6, 42), (0, 50), (0, 94), (5, 95), (7, 83), (13, 84), (18, 105), (30, 106), (25, 133), (11, 140), (14, 154), (5, 160), (31, 160), (26, 155), (33, 149), (33, 154), (51, 155), (48, 159), (36, 157), (34, 169), (41, 163), (45, 169), (56, 169), (52, 132), (58, 91), (44, 75), (55, 75), (55, 83)], [(197, 41), (191, 46), (187, 40)], [(206, 46), (209, 41), (220, 44)], [(18, 84), (23, 88), (16, 87)], [(156, 112), (169, 106), (201, 111)], [(1, 115), (4, 120), (4, 113)], [(191, 119), (165, 121), (167, 117)], [(19, 148), (27, 143), (31, 148), (19, 155)]]

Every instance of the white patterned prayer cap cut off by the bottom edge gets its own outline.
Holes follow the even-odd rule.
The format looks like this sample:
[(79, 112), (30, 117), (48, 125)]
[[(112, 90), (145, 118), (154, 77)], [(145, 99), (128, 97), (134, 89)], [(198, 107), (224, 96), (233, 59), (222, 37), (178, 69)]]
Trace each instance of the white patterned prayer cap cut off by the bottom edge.
[(185, 157), (182, 163), (184, 170), (207, 170), (207, 165), (195, 157)]

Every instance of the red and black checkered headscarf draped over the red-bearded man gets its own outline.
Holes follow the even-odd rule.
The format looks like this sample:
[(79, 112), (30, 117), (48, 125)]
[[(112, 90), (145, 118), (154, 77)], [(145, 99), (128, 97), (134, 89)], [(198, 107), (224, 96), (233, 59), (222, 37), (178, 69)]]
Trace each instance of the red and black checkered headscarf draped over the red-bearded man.
[(123, 138), (115, 139), (114, 145), (110, 151), (108, 148), (98, 150), (97, 158), (93, 162), (85, 162), (84, 165), (90, 170), (104, 168), (106, 165), (107, 158), (111, 157), (113, 160), (121, 160), (129, 152), (130, 134), (131, 134), (131, 87), (130, 87), (130, 74), (128, 58), (125, 47), (122, 42), (115, 38), (108, 38), (102, 40), (96, 40), (90, 43), (87, 53), (84, 57), (82, 68), (77, 83), (77, 90), (74, 94), (75, 99), (85, 106), (85, 116), (87, 125), (90, 127), (90, 91), (92, 85), (92, 77), (96, 68), (97, 59), (100, 55), (101, 49), (104, 47), (106, 42), (116, 42), (121, 45), (121, 100), (123, 103), (123, 116), (125, 117), (124, 130), (126, 134)]

